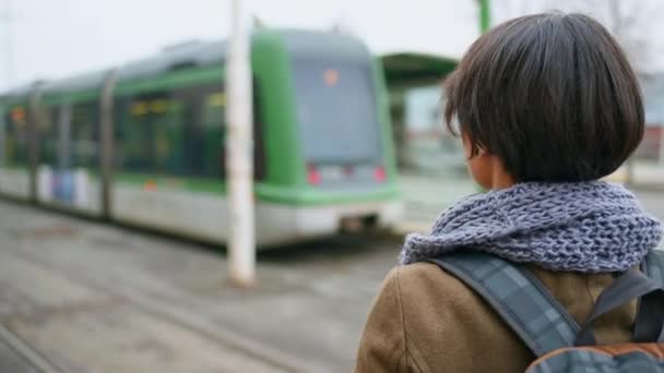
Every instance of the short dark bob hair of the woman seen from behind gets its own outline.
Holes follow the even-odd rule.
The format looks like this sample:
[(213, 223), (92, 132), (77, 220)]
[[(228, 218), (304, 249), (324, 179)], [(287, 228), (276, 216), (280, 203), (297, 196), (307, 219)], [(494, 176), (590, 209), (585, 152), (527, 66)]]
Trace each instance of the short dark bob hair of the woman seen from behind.
[(588, 181), (615, 171), (643, 136), (625, 53), (583, 14), (526, 15), (477, 39), (444, 82), (448, 127), (500, 158), (519, 182)]

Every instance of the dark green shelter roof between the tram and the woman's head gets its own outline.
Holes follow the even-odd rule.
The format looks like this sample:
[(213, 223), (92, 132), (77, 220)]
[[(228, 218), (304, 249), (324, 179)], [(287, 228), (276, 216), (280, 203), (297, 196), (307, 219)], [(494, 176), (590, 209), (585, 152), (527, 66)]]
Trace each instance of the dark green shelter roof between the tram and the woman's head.
[(381, 57), (390, 87), (412, 87), (440, 83), (459, 61), (453, 58), (399, 52)]

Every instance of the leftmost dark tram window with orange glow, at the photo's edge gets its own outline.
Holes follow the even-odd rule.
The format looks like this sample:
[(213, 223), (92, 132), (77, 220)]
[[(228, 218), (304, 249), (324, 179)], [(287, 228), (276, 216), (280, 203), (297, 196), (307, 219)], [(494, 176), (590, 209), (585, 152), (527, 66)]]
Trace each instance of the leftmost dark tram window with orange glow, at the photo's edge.
[(4, 160), (9, 166), (27, 165), (27, 110), (14, 106), (5, 113)]

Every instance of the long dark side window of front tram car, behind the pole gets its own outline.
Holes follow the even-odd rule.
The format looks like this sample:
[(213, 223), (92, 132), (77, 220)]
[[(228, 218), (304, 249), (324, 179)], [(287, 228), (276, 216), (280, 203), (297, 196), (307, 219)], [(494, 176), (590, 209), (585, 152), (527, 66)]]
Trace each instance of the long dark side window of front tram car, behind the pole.
[[(116, 163), (124, 171), (225, 177), (223, 85), (155, 92), (118, 101)], [(263, 124), (254, 105), (254, 171), (264, 177)]]

